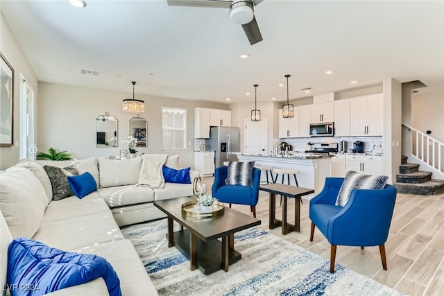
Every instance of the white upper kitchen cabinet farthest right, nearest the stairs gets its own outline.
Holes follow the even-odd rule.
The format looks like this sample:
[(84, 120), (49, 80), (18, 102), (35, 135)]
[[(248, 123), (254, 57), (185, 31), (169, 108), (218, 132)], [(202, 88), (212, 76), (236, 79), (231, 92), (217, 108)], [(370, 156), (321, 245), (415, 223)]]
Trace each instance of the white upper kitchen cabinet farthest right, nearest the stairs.
[(383, 108), (383, 94), (351, 98), (350, 136), (382, 136)]

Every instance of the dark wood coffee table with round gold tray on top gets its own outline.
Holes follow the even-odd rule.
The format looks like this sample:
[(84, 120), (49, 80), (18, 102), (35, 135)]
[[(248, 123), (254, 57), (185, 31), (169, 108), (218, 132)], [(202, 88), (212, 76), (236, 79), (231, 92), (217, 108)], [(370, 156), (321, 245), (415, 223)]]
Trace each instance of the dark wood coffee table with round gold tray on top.
[[(260, 225), (261, 220), (228, 207), (225, 207), (223, 215), (217, 217), (182, 215), (182, 204), (192, 200), (176, 198), (154, 202), (155, 207), (168, 217), (168, 247), (175, 245), (187, 256), (190, 270), (199, 268), (205, 275), (220, 269), (227, 272), (228, 265), (241, 259), (241, 253), (234, 250), (234, 233)], [(177, 232), (173, 232), (173, 221), (181, 226)]]

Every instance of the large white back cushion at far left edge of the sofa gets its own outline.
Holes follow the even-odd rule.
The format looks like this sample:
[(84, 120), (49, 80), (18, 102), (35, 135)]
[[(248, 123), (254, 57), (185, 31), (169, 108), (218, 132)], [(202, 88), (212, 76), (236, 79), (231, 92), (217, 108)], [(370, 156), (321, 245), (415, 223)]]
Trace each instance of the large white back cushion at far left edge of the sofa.
[(42, 223), (46, 193), (27, 168), (12, 166), (0, 174), (0, 210), (12, 237), (31, 238)]

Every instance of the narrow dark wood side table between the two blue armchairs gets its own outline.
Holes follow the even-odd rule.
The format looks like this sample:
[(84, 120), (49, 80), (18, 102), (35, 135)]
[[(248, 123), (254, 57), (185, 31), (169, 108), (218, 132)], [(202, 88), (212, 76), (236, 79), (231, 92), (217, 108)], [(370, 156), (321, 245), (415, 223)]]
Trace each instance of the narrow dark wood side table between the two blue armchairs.
[[(275, 183), (259, 186), (259, 190), (270, 193), (268, 228), (273, 229), (282, 226), (282, 234), (289, 234), (293, 231), (300, 232), (300, 198), (301, 196), (314, 193), (314, 189)], [(276, 219), (276, 194), (282, 195), (284, 198), (282, 205), (282, 220)], [(295, 199), (294, 225), (287, 222), (287, 197)]]

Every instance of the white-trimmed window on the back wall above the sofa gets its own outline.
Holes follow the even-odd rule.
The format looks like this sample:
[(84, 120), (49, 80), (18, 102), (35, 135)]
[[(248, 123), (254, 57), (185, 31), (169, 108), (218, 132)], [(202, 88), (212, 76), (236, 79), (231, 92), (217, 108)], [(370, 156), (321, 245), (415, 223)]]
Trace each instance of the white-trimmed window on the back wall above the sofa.
[(162, 150), (187, 148), (187, 110), (162, 107)]

